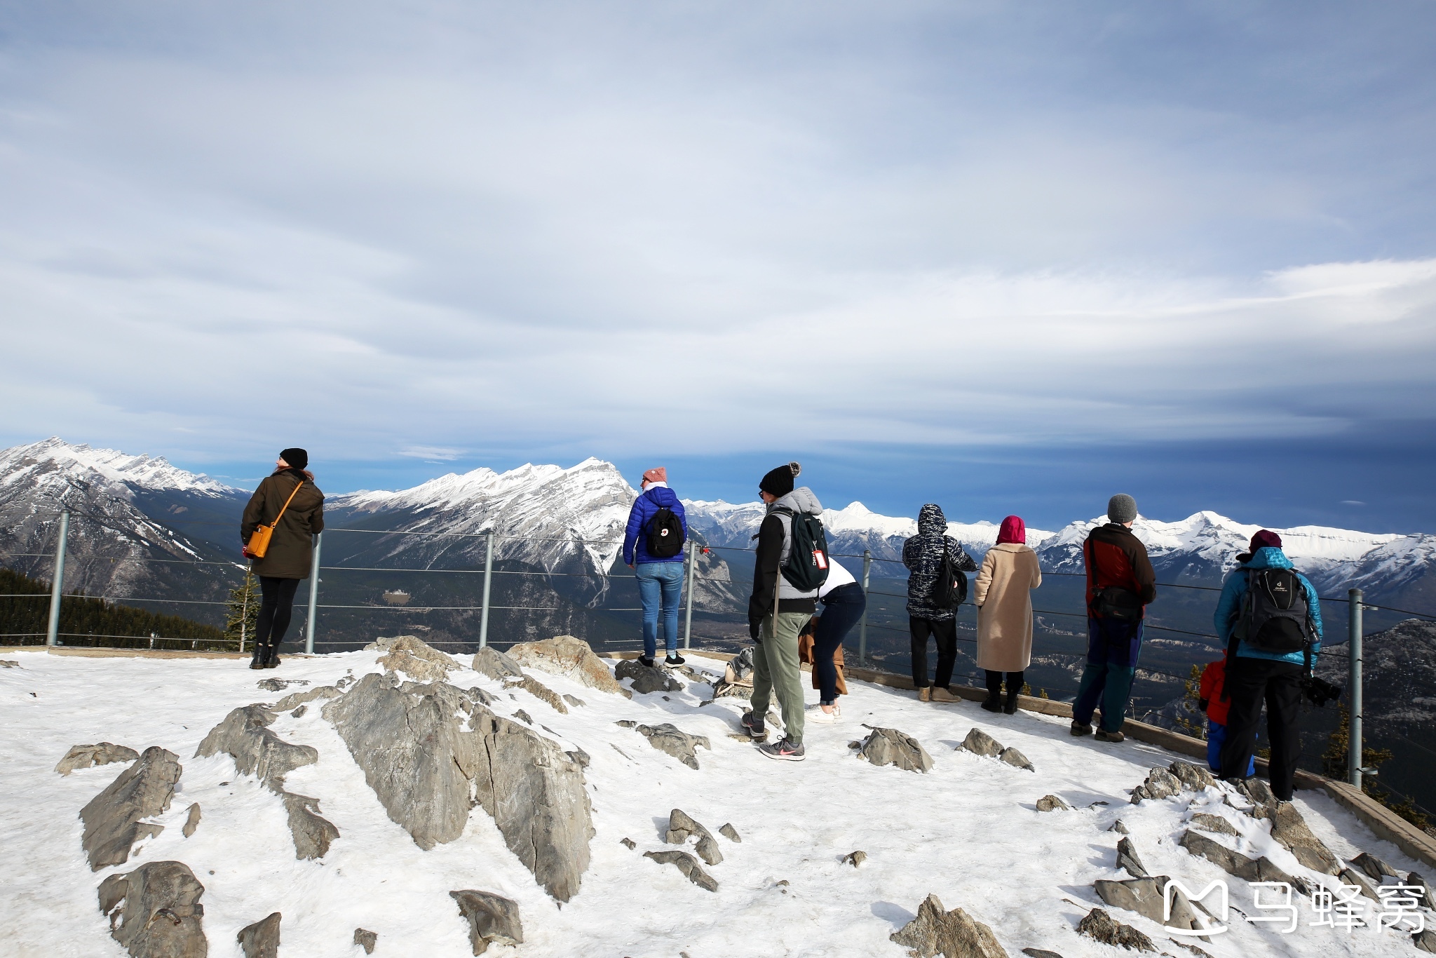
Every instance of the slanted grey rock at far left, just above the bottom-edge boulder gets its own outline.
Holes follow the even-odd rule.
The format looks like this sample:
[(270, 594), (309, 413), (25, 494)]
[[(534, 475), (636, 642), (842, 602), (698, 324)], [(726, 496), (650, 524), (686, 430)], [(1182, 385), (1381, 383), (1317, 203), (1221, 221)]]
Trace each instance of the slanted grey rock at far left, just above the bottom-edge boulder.
[(80, 809), (85, 834), (80, 839), (90, 869), (123, 865), (129, 849), (142, 837), (164, 832), (164, 826), (141, 822), (169, 809), (175, 783), (184, 771), (172, 751), (151, 745), (115, 781)]

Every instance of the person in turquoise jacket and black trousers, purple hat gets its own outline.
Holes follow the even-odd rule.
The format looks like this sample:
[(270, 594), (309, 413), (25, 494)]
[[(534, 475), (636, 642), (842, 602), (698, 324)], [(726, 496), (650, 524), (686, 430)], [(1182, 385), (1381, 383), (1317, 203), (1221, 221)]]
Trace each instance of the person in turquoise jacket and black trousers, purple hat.
[[(1311, 582), (1295, 572), (1291, 559), (1281, 550), (1281, 536), (1277, 533), (1262, 529), (1252, 536), (1251, 553), (1236, 559), (1239, 564), (1222, 583), (1222, 597), (1212, 619), (1228, 648), (1225, 695), (1229, 710), (1221, 755), (1222, 777), (1231, 781), (1249, 776), (1256, 725), (1265, 702), (1267, 737), (1271, 743), (1267, 776), (1271, 778), (1272, 794), (1291, 801), (1297, 760), (1301, 757), (1301, 734), (1297, 728), (1301, 685), (1315, 668), (1317, 654), (1321, 651), (1321, 603)], [(1251, 576), (1262, 569), (1291, 569), (1305, 590), (1310, 656), (1301, 649), (1275, 652), (1232, 638), (1251, 587)]]

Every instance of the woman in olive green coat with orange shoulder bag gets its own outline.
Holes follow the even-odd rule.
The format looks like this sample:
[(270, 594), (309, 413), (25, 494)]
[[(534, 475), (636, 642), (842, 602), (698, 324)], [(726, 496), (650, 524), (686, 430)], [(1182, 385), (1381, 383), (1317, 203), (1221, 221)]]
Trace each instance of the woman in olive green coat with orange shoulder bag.
[[(251, 669), (279, 665), (279, 645), (289, 631), (299, 582), (309, 577), (314, 554), (314, 536), (325, 529), (325, 494), (314, 485), (314, 474), (307, 468), (309, 452), (284, 450), (269, 475), (244, 507), (240, 541), (261, 524), (279, 518), (264, 557), (251, 557), (251, 570), (260, 579), (260, 616), (254, 628), (254, 659)], [(286, 507), (286, 503), (289, 506)], [(283, 511), (283, 514), (280, 514)], [(244, 550), (248, 556), (248, 549)]]

